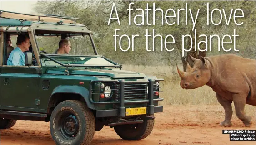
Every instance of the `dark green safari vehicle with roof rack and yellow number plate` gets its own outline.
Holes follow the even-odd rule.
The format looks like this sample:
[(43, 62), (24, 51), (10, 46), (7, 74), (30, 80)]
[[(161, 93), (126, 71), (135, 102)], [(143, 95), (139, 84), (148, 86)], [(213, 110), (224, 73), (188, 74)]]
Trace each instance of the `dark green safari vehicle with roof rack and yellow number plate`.
[[(98, 55), (92, 32), (77, 19), (1, 11), (1, 129), (17, 120), (50, 122), (57, 145), (89, 145), (104, 126), (124, 140), (146, 138), (154, 114), (163, 111), (163, 79), (122, 70)], [(25, 66), (9, 66), (19, 34), (30, 38)], [(60, 39), (71, 41), (74, 54), (54, 53)]]

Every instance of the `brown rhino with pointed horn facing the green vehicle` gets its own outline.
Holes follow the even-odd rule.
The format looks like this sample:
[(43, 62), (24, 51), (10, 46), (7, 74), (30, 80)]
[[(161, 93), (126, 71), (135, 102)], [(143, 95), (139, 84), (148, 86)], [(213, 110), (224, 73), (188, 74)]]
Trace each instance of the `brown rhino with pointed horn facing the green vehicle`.
[(196, 89), (207, 85), (216, 92), (218, 102), (225, 110), (225, 120), (221, 126), (232, 126), (231, 118), (234, 102), (236, 116), (246, 127), (251, 126), (251, 116), (247, 116), (244, 108), (246, 104), (255, 106), (256, 92), (256, 60), (243, 58), (235, 54), (221, 54), (209, 57), (190, 56), (192, 68), (186, 65), (186, 72), (177, 71), (181, 78), (180, 85), (183, 89)]

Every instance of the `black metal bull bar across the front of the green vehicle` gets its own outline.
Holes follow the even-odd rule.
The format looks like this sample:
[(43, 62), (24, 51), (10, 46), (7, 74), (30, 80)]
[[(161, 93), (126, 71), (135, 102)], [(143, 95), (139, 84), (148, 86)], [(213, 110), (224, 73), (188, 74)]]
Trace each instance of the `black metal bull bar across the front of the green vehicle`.
[[(137, 103), (147, 103), (147, 115), (154, 115), (155, 112), (155, 106), (154, 106), (154, 101), (162, 101), (164, 100), (163, 98), (156, 98), (154, 99), (154, 82), (156, 81), (163, 81), (163, 79), (156, 79), (156, 80), (152, 80), (152, 79), (148, 79), (148, 81), (143, 81), (143, 82), (126, 82), (126, 83), (148, 83), (148, 100), (133, 100), (133, 101), (125, 101), (125, 81), (124, 80), (94, 80), (90, 82), (90, 95), (89, 95), (89, 99), (90, 102), (93, 104), (120, 104), (119, 105), (119, 111), (118, 114), (120, 117), (125, 117), (125, 104), (137, 104)], [(115, 82), (117, 84), (120, 85), (120, 101), (106, 101), (106, 102), (95, 102), (92, 100), (92, 85), (95, 82)]]

